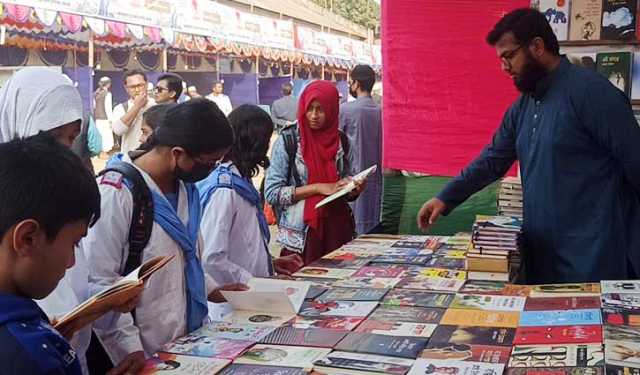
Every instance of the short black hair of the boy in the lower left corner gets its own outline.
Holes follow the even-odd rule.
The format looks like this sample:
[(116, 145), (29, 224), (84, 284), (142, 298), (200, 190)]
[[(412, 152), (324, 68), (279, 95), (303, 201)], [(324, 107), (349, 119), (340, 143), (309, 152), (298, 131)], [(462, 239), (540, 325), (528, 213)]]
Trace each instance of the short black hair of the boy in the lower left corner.
[(100, 192), (71, 149), (47, 133), (0, 144), (0, 238), (27, 219), (52, 241), (67, 224), (93, 225)]

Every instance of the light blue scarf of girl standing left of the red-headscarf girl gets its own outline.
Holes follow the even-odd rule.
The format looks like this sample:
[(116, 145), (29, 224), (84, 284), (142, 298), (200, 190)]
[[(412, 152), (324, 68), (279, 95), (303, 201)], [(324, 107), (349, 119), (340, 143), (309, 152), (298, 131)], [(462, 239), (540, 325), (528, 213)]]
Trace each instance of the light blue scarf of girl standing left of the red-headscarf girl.
[(200, 205), (203, 211), (205, 207), (207, 207), (213, 193), (219, 188), (233, 189), (243, 199), (256, 207), (256, 216), (260, 224), (260, 232), (264, 238), (264, 248), (269, 259), (269, 274), (273, 275), (271, 254), (269, 253), (269, 247), (267, 245), (271, 240), (271, 232), (269, 232), (269, 224), (262, 209), (260, 193), (258, 193), (258, 190), (256, 190), (251, 181), (233, 173), (229, 167), (219, 165), (207, 178), (196, 183), (196, 185), (200, 191)]

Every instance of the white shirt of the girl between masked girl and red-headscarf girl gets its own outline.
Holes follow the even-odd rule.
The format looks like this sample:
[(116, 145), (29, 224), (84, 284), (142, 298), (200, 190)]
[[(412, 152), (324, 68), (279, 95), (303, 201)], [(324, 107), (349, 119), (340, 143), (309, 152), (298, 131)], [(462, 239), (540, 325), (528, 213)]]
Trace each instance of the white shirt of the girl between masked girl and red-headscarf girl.
[[(240, 176), (231, 163), (223, 164)], [(252, 277), (269, 277), (271, 259), (265, 249), (256, 207), (230, 188), (218, 188), (204, 208), (200, 232), (202, 263), (220, 285), (246, 284)]]

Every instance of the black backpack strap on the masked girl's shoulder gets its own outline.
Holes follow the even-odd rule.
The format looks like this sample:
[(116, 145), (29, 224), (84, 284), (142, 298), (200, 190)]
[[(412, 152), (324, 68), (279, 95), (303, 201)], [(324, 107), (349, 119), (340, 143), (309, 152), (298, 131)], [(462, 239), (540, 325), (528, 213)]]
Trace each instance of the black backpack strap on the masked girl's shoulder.
[(114, 162), (100, 172), (99, 176), (108, 172), (122, 174), (124, 183), (133, 196), (133, 214), (129, 226), (129, 255), (122, 271), (122, 276), (126, 276), (142, 264), (142, 251), (149, 243), (153, 228), (153, 198), (142, 174), (131, 164)]

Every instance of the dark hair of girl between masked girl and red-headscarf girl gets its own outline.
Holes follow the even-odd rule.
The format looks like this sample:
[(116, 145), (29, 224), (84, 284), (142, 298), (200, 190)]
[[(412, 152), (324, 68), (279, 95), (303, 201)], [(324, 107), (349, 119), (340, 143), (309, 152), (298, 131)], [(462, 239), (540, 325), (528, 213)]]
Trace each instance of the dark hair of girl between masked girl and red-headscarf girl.
[(269, 144), (273, 121), (260, 107), (243, 104), (229, 113), (235, 142), (229, 157), (243, 177), (258, 175), (258, 167), (269, 168)]

